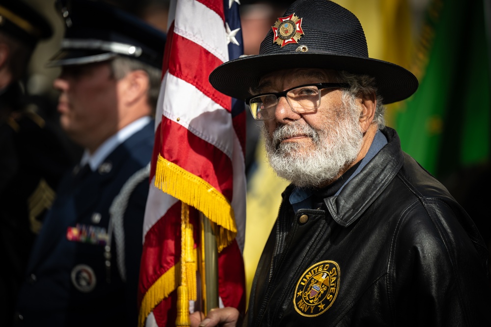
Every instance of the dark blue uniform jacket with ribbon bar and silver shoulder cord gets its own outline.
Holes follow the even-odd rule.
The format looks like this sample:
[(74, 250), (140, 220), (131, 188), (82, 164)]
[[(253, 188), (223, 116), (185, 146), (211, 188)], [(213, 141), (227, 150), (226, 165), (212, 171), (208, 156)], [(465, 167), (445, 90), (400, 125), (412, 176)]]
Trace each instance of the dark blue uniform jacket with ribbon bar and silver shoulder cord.
[(27, 265), (20, 326), (136, 326), (153, 120), (63, 179)]

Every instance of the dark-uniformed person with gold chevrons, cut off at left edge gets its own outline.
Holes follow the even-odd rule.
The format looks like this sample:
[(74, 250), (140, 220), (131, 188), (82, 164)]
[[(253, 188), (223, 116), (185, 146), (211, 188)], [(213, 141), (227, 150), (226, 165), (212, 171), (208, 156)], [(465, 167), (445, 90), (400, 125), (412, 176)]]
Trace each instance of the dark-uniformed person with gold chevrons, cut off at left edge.
[(13, 323), (27, 258), (71, 164), (59, 126), (29, 101), (22, 81), (45, 17), (21, 0), (0, 2), (0, 326)]

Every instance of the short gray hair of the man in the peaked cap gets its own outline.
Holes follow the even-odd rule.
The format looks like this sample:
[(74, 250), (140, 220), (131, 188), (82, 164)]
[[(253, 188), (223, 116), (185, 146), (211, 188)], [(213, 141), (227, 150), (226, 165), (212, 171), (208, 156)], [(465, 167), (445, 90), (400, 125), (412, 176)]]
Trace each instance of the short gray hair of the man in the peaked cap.
[(148, 105), (152, 108), (152, 114), (155, 114), (157, 108), (157, 100), (159, 98), (160, 84), (162, 81), (162, 71), (149, 64), (141, 62), (139, 60), (125, 57), (116, 56), (110, 62), (112, 74), (116, 79), (122, 79), (128, 73), (133, 71), (142, 70), (148, 75), (149, 88), (148, 88)]

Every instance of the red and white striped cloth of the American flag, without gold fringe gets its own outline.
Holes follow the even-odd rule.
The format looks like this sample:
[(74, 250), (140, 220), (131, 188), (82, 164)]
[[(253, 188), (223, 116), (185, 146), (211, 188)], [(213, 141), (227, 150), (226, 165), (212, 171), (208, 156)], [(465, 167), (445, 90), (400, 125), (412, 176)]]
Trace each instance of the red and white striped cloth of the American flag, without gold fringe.
[[(238, 123), (232, 121), (231, 98), (219, 93), (208, 81), (213, 69), (228, 60), (223, 1), (174, 0), (169, 22), (155, 122), (152, 180), (143, 226), (139, 302), (148, 288), (178, 262), (179, 256), (174, 253), (174, 246), (180, 244), (180, 239), (176, 239), (173, 227), (180, 222), (180, 201), (154, 186), (160, 153), (166, 160), (206, 180), (230, 201), (237, 236), (236, 242), (219, 254), (219, 296), (225, 306), (244, 306), (242, 277), (231, 276), (244, 274), (244, 137), (234, 128)], [(174, 324), (167, 317), (169, 308), (175, 305), (172, 299), (173, 295), (154, 308), (146, 326)]]

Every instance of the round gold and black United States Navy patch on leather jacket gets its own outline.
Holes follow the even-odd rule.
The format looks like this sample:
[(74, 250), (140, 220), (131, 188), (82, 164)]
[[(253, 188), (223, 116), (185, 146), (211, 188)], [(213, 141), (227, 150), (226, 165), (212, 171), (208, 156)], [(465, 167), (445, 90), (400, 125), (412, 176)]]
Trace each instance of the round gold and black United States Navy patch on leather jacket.
[(339, 290), (339, 266), (334, 261), (321, 261), (310, 266), (300, 277), (293, 304), (305, 317), (316, 317), (332, 305)]

